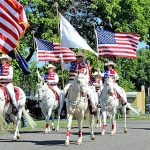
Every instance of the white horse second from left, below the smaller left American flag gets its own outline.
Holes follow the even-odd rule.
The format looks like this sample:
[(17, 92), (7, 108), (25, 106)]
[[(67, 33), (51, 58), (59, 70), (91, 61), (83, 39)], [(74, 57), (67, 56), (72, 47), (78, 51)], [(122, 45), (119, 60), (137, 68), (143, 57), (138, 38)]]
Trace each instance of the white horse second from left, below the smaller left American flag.
[(45, 133), (49, 133), (51, 131), (49, 120), (52, 115), (52, 129), (54, 130), (54, 113), (53, 111), (56, 111), (59, 108), (58, 111), (58, 119), (57, 119), (57, 127), (56, 131), (59, 130), (59, 121), (60, 121), (60, 107), (59, 107), (59, 101), (56, 100), (56, 96), (54, 92), (48, 87), (48, 85), (41, 81), (39, 84), (37, 84), (37, 93), (38, 93), (38, 100), (40, 102), (40, 107), (42, 110), (42, 113), (45, 117), (46, 125), (45, 125)]

